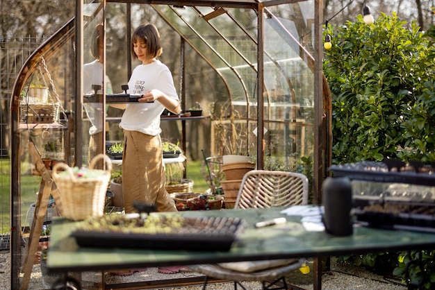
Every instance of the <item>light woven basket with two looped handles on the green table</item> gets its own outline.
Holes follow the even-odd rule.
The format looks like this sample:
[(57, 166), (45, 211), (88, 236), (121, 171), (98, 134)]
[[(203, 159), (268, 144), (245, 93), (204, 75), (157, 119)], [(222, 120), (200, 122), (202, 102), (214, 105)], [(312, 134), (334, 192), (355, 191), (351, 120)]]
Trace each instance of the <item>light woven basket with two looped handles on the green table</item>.
[[(106, 163), (105, 171), (94, 169), (96, 162), (101, 158)], [(69, 174), (60, 175), (58, 169), (64, 169)], [(107, 155), (99, 154), (90, 162), (90, 170), (103, 171), (103, 174), (95, 178), (76, 178), (72, 169), (65, 163), (58, 163), (53, 168), (53, 178), (62, 198), (63, 216), (67, 219), (81, 221), (104, 214), (112, 162)]]

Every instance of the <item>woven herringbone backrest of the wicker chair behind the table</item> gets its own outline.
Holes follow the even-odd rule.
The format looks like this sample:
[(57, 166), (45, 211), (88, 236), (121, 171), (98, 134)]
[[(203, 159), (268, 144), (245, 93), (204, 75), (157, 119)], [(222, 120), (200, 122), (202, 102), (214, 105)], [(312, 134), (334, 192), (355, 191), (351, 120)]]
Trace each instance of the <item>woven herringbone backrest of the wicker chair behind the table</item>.
[(234, 208), (306, 205), (308, 194), (302, 173), (252, 170), (243, 176)]

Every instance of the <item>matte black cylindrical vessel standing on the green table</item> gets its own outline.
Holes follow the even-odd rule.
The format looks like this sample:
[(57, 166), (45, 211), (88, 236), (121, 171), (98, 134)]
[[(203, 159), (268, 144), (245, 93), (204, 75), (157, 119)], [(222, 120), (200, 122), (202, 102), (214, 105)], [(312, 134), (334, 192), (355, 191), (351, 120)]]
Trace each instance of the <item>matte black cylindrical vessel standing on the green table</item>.
[(322, 185), (325, 230), (334, 236), (353, 233), (352, 184), (349, 178), (326, 178)]

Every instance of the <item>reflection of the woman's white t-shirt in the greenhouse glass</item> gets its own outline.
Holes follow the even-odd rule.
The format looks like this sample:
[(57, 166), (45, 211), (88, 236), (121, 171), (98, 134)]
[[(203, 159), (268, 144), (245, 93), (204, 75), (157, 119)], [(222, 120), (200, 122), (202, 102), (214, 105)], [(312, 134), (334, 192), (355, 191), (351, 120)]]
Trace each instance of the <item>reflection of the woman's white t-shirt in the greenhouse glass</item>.
[[(106, 94), (113, 94), (112, 83), (108, 76), (105, 78)], [(98, 60), (89, 62), (83, 65), (83, 92), (84, 94), (94, 94), (92, 85), (101, 85), (103, 87), (103, 64)], [(99, 89), (97, 93), (102, 94), (103, 89)], [(85, 112), (88, 119), (92, 123), (89, 128), (89, 135), (95, 135), (103, 131), (103, 117), (105, 114), (101, 103), (84, 103)]]

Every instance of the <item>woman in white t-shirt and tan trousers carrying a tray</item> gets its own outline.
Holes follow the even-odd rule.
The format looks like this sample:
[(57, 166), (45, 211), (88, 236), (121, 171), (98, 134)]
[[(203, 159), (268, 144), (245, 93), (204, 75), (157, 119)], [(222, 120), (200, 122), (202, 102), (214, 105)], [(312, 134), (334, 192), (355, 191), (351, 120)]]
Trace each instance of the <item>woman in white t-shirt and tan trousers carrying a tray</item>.
[(156, 59), (162, 51), (156, 26), (136, 28), (131, 53), (142, 65), (133, 69), (129, 94), (140, 95), (139, 103), (128, 103), (120, 122), (124, 130), (122, 191), (126, 213), (136, 212), (133, 201), (155, 204), (158, 212), (177, 211), (165, 189), (160, 118), (165, 108), (179, 114), (181, 107), (170, 70)]

